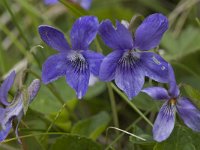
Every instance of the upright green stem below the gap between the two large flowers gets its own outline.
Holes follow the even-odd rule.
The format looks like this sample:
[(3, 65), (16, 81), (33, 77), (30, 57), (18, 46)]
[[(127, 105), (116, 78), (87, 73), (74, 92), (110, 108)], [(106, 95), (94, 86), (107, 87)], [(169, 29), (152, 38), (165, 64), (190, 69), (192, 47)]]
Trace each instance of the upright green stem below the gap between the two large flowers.
[(108, 87), (108, 93), (109, 93), (109, 97), (110, 97), (110, 104), (111, 104), (114, 125), (119, 128), (119, 120), (118, 120), (118, 115), (117, 115), (117, 107), (116, 107), (113, 89), (112, 89), (110, 83), (107, 83), (107, 87)]

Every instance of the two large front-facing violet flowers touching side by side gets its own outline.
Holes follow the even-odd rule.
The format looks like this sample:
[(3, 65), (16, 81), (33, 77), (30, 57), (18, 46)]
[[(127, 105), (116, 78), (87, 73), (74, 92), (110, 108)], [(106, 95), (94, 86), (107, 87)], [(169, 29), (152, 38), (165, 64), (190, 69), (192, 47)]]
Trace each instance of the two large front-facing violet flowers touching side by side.
[[(70, 47), (61, 31), (41, 25), (41, 39), (59, 51), (59, 54), (50, 56), (43, 64), (42, 81), (47, 84), (66, 76), (67, 83), (80, 99), (87, 91), (90, 74), (93, 74), (102, 81), (115, 79), (116, 85), (132, 99), (141, 91), (145, 76), (158, 82), (168, 80), (168, 63), (159, 55), (146, 52), (159, 44), (167, 28), (167, 18), (162, 14), (147, 17), (134, 37), (119, 22), (115, 29), (109, 20), (99, 25), (94, 16), (80, 17), (72, 27)], [(105, 58), (100, 53), (88, 50), (97, 32), (113, 49)]]

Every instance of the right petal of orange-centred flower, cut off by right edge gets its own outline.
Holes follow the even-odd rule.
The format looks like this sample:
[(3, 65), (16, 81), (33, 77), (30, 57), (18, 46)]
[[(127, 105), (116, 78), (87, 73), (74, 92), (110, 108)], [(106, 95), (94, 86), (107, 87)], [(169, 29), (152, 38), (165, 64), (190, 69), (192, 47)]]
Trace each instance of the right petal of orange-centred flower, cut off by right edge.
[(185, 97), (177, 101), (177, 112), (184, 123), (194, 131), (200, 132), (200, 111)]

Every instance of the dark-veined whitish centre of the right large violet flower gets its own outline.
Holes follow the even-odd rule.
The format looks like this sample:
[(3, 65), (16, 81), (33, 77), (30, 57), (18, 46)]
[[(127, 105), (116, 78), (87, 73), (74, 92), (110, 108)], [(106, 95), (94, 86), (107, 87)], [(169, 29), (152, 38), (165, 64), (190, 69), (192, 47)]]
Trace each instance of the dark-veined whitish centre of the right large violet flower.
[(126, 68), (126, 67), (130, 68), (130, 67), (133, 67), (137, 63), (139, 58), (140, 58), (139, 53), (133, 50), (129, 50), (127, 52), (124, 52), (123, 56), (118, 61), (118, 63), (123, 68)]

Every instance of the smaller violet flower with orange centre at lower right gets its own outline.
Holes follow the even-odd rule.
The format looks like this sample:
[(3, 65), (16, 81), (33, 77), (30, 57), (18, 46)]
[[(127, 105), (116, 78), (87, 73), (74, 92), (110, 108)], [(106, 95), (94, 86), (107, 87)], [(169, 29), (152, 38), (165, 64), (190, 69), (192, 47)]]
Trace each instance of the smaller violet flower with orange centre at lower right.
[(169, 90), (162, 87), (149, 87), (142, 90), (155, 100), (166, 100), (161, 107), (153, 126), (153, 137), (161, 142), (167, 139), (175, 124), (175, 112), (192, 130), (200, 132), (200, 111), (186, 97), (180, 97), (174, 71), (169, 65)]

